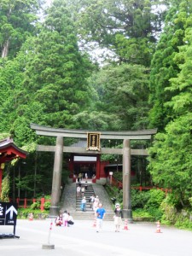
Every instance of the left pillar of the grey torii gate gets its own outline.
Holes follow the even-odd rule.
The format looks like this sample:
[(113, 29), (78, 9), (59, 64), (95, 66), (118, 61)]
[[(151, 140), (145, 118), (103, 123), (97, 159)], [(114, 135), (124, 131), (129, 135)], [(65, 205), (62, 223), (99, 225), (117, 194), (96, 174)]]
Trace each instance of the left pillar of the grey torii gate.
[(55, 160), (51, 191), (51, 205), (49, 217), (54, 217), (59, 214), (59, 201), (61, 189), (61, 170), (62, 170), (62, 154), (63, 154), (63, 137), (56, 137), (55, 145)]

